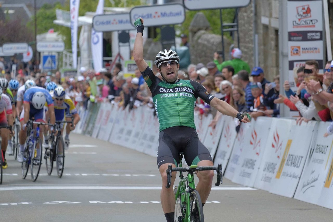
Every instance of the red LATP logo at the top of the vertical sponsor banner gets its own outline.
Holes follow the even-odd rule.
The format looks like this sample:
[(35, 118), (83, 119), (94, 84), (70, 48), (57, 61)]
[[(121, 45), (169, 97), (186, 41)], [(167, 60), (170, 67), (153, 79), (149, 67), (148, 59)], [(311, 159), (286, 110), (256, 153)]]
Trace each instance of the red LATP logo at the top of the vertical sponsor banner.
[(318, 22), (317, 19), (311, 19), (310, 5), (301, 5), (296, 7), (297, 20), (292, 21), (293, 28), (314, 28)]

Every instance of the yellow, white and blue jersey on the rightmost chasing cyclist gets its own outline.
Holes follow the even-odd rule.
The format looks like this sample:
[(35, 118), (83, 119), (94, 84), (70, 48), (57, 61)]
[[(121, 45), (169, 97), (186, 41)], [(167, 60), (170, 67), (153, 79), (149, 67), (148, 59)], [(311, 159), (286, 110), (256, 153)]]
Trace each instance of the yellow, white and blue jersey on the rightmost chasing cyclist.
[[(54, 100), (53, 91), (50, 92), (52, 99)], [(63, 120), (64, 117), (71, 117), (72, 115), (78, 113), (71, 98), (66, 95), (62, 106), (58, 106), (54, 103), (54, 114), (56, 116), (56, 121)]]

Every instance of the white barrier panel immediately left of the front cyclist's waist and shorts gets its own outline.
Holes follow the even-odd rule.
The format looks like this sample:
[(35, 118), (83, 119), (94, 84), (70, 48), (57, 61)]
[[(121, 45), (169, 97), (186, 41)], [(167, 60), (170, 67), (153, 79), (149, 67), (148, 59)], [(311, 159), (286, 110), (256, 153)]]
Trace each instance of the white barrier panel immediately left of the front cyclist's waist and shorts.
[(146, 123), (145, 133), (142, 137), (142, 145), (144, 146), (144, 153), (150, 156), (157, 156), (157, 150), (159, 143), (159, 133), (156, 132), (159, 130), (159, 120), (156, 116), (149, 115), (148, 121)]

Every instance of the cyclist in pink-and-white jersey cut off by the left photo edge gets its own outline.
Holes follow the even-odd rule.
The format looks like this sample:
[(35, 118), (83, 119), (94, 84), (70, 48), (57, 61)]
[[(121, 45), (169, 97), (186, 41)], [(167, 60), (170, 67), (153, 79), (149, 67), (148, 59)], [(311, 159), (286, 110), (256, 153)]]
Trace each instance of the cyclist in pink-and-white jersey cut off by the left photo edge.
[[(7, 116), (6, 116), (7, 114)], [(8, 121), (7, 121), (8, 118)], [(13, 127), (13, 110), (9, 97), (2, 93), (2, 88), (0, 87), (0, 126), (12, 126)], [(1, 136), (1, 149), (4, 161), (2, 162), (2, 168), (6, 169), (8, 167), (7, 161), (5, 158), (5, 153), (7, 150), (8, 136), (11, 132), (6, 129), (0, 129)], [(1, 157), (0, 157), (1, 158)]]

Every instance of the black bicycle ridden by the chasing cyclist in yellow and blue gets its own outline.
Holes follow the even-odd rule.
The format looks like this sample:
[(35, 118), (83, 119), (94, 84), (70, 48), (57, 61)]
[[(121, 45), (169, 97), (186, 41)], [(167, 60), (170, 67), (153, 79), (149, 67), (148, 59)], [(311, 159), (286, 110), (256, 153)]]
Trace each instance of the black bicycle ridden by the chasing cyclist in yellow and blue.
[(53, 169), (53, 161), (56, 161), (57, 174), (60, 178), (64, 172), (65, 164), (65, 143), (61, 134), (62, 123), (71, 123), (72, 121), (56, 121), (55, 132), (51, 132), (48, 141), (51, 144), (49, 149), (45, 150), (44, 159), (46, 163), (47, 174), (51, 175)]

